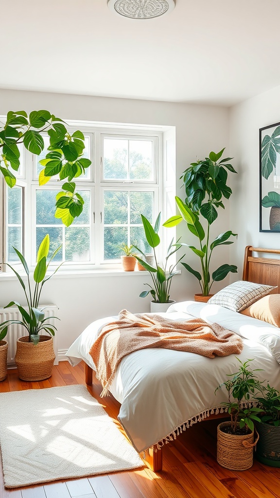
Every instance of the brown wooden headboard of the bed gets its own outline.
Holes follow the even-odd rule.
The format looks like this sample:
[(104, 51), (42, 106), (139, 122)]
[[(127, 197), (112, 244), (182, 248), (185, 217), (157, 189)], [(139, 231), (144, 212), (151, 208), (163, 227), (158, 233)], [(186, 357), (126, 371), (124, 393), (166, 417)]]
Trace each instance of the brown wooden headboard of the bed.
[(245, 249), (243, 280), (249, 282), (263, 283), (265, 285), (278, 285), (273, 294), (280, 293), (280, 259), (261, 257), (253, 252), (280, 254), (280, 249), (262, 249), (247, 246)]

